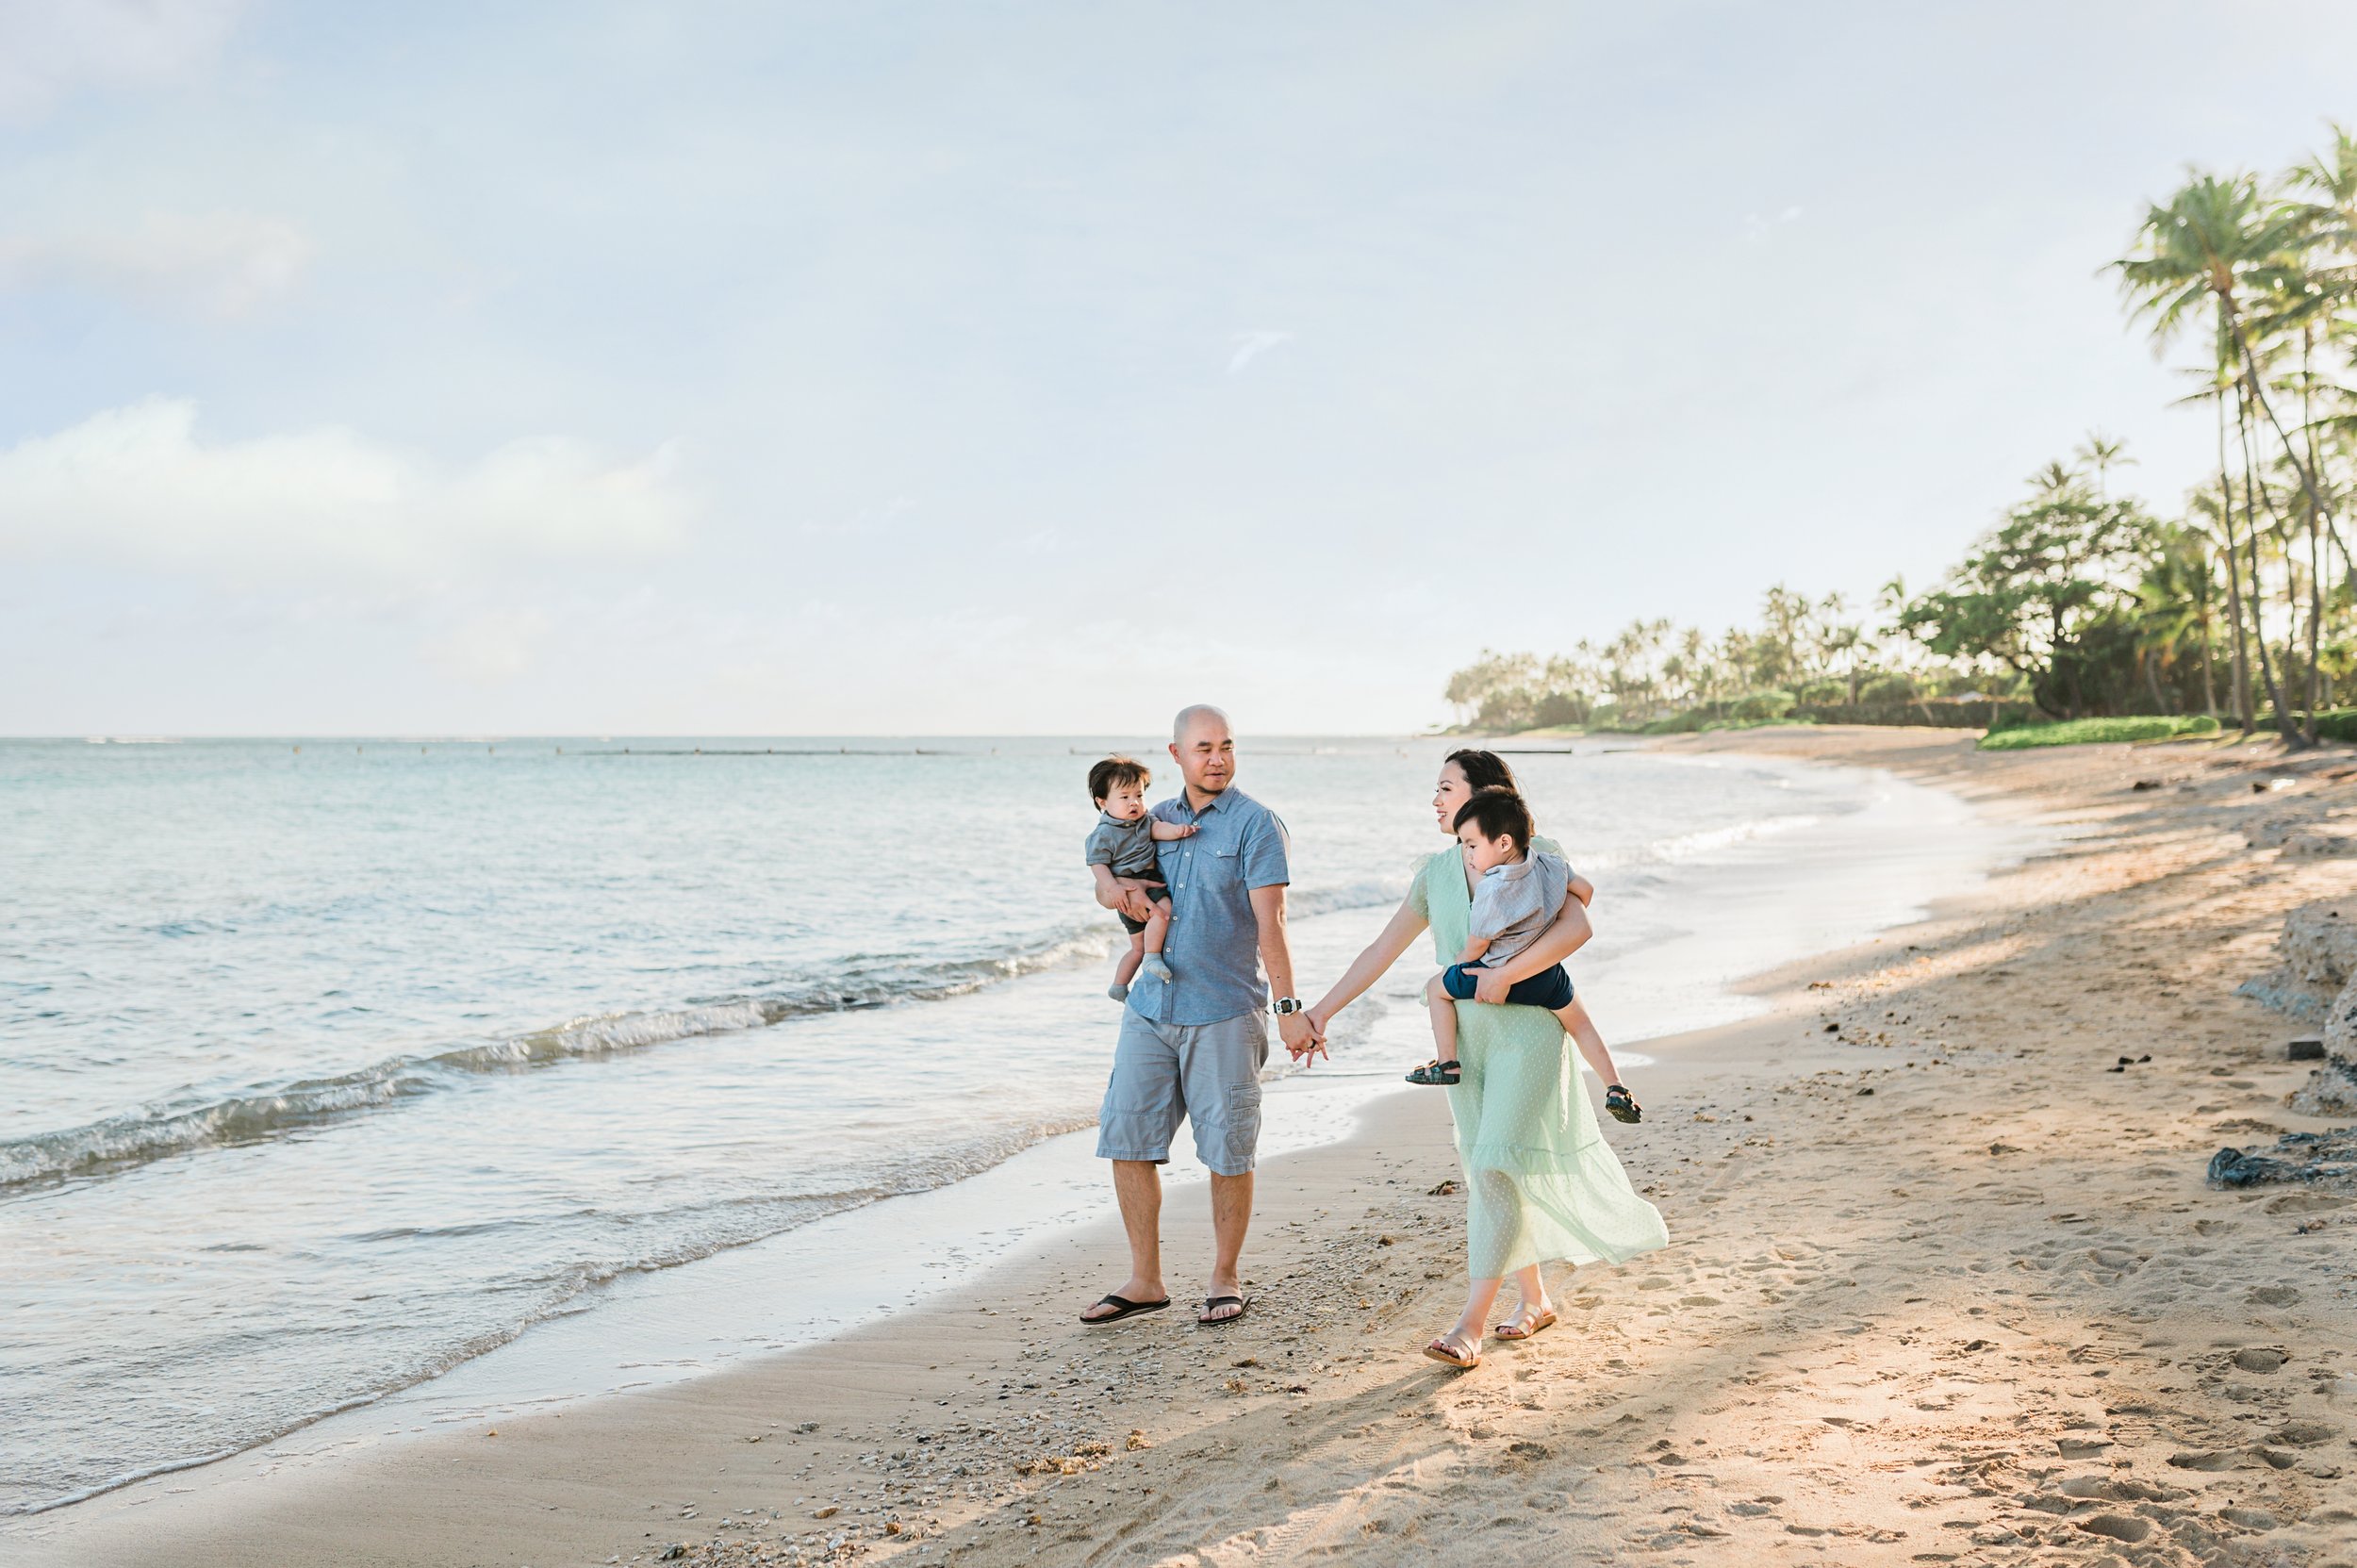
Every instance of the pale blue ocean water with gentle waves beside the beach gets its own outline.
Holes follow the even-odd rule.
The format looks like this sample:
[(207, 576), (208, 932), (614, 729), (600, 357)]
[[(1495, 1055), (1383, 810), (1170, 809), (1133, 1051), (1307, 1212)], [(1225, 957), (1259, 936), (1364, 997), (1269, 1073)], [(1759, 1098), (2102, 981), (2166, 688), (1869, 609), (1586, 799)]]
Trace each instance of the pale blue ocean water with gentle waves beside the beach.
[[(0, 1511), (1089, 1125), (1105, 750), (1153, 743), (0, 743)], [(1440, 846), (1442, 750), (1244, 743), (1306, 995)], [(1617, 1040), (1739, 1016), (1742, 974), (1989, 858), (1876, 773), (1516, 764), (1603, 889), (1574, 974)], [(1424, 971), (1315, 1082), (1417, 1059)]]

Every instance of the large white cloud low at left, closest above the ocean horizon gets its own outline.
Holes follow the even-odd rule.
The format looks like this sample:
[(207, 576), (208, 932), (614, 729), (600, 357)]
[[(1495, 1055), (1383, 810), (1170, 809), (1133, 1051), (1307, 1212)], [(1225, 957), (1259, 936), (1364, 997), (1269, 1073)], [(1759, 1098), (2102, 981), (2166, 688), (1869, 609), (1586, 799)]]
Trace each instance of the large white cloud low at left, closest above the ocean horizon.
[(337, 427), (207, 443), (196, 403), (146, 398), (0, 450), (0, 552), (422, 582), (500, 559), (662, 549), (691, 516), (674, 467), (669, 443), (618, 465), (563, 436), (464, 467)]

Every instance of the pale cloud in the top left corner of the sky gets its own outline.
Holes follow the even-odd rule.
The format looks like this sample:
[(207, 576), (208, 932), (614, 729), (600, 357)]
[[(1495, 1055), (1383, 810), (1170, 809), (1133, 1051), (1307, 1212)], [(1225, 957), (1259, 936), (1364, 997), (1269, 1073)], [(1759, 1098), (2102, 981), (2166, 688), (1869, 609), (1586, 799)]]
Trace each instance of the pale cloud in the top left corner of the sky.
[(0, 118), (78, 87), (186, 75), (219, 52), (245, 0), (0, 0)]

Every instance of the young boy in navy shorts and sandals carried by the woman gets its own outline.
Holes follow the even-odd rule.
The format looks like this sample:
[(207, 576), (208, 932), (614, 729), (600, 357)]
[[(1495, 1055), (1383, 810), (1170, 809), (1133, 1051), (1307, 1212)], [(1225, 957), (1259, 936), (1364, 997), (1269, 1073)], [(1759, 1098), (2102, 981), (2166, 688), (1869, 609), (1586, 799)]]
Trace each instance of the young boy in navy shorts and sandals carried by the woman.
[[(1459, 1080), (1457, 1002), (1473, 1000), (1480, 969), (1501, 969), (1513, 955), (1539, 941), (1546, 927), (1556, 924), (1563, 901), (1572, 896), (1572, 887), (1579, 882), (1563, 856), (1530, 846), (1530, 806), (1513, 790), (1475, 790), (1457, 809), (1454, 828), (1457, 842), (1464, 846), (1466, 868), (1478, 875), (1478, 882), (1473, 884), (1473, 910), (1464, 953), (1424, 988), (1424, 1000), (1433, 1014), (1433, 1042), (1440, 1054), (1428, 1066), (1407, 1075), (1407, 1082), (1414, 1085), (1452, 1085)], [(1589, 1023), (1586, 1009), (1572, 1004), (1572, 976), (1563, 971), (1563, 964), (1549, 964), (1539, 974), (1516, 981), (1506, 990), (1506, 1004), (1544, 1007), (1556, 1014), (1556, 1021), (1579, 1045), (1579, 1054), (1605, 1080), (1605, 1111), (1622, 1122), (1643, 1120), (1636, 1099), (1615, 1080), (1612, 1056), (1603, 1049), (1603, 1037)]]

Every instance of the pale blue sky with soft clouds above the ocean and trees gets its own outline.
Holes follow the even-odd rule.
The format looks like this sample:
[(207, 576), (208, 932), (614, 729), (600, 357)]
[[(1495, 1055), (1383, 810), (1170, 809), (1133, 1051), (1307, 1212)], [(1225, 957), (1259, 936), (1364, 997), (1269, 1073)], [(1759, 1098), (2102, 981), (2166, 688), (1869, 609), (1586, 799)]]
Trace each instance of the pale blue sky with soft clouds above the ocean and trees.
[[(2209, 420), (2357, 7), (0, 0), (0, 733), (1414, 731)], [(2185, 354), (2176, 356), (2178, 363)]]

